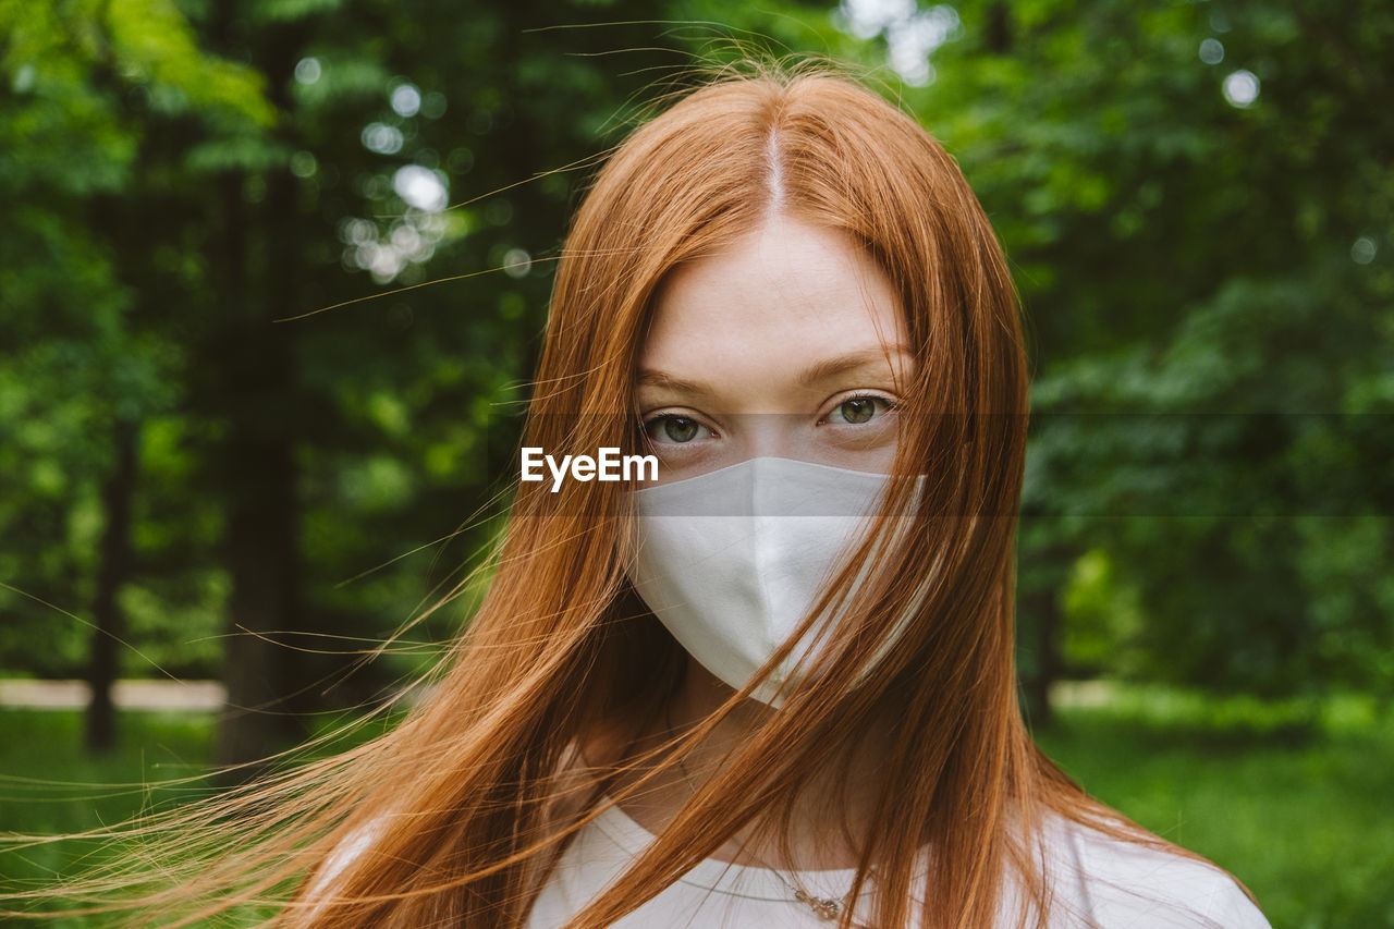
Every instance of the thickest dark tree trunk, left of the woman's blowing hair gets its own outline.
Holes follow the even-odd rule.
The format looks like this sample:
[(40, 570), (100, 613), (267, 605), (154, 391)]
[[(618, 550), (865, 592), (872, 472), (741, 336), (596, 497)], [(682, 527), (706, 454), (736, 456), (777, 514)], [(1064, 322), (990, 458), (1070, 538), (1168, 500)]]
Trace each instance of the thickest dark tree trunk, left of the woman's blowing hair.
[[(215, 47), (236, 50), (245, 38), (247, 24), (237, 11), (231, 0), (215, 6)], [(287, 112), (286, 88), (305, 29), (302, 24), (269, 27), (247, 42), (261, 53), (254, 66), (270, 77), (269, 98)], [(293, 127), (282, 131), (294, 133)], [(258, 774), (256, 762), (304, 739), (309, 709), (304, 692), (314, 677), (305, 654), (287, 639), (304, 624), (296, 466), (301, 385), (296, 329), (276, 324), (298, 307), (300, 215), (287, 167), (269, 169), (262, 180), (265, 195), (256, 206), (244, 197), (243, 172), (226, 173), (217, 191), (222, 339), (210, 346), (209, 361), (219, 368), (215, 403), (227, 423), (219, 480), (231, 594), (223, 656), (227, 706), (216, 759), (222, 766), (240, 766), (229, 771), (229, 781)]]

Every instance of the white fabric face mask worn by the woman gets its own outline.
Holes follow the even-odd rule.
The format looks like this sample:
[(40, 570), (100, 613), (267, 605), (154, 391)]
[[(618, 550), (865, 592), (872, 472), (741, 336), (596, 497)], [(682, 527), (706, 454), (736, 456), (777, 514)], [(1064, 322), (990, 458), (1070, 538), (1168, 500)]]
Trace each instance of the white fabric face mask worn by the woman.
[[(743, 688), (874, 523), (889, 481), (889, 474), (753, 458), (637, 490), (630, 582), (693, 658)], [(831, 621), (814, 624), (751, 696), (779, 706), (776, 690), (793, 667), (827, 646), (820, 626), (841, 615), (839, 607)]]

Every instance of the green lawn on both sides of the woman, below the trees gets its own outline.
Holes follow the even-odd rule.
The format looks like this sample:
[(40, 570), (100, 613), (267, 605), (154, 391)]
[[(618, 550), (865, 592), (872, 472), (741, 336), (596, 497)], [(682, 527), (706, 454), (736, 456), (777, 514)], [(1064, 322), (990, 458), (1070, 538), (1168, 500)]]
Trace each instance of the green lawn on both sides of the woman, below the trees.
[[(212, 714), (127, 713), (123, 748), (88, 759), (78, 714), (0, 709), (0, 830), (78, 831), (170, 802), (141, 784), (198, 773), (212, 730)], [(1093, 795), (1232, 872), (1276, 929), (1394, 929), (1394, 720), (1373, 702), (1119, 688), (1037, 739)], [(0, 887), (72, 873), (91, 851), (0, 856)]]

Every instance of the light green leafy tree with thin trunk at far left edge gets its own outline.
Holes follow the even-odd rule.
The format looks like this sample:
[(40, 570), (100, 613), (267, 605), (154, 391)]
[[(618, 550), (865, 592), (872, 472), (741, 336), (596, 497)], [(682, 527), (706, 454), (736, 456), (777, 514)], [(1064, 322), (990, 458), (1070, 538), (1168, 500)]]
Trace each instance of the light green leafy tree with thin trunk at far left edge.
[[(25, 593), (92, 604), (88, 739), (109, 748), (135, 435), (146, 416), (169, 406), (174, 371), (169, 347), (141, 331), (151, 307), (120, 280), (109, 236), (120, 236), (121, 223), (103, 213), (112, 197), (141, 192), (132, 167), (142, 130), (131, 119), (127, 82), (152, 74), (158, 92), (187, 93), (212, 116), (255, 113), (259, 98), (250, 75), (201, 59), (159, 4), (109, 10), (107, 29), (92, 28), (93, 11), (0, 6), (8, 77), (0, 197), (14, 204), (0, 233), (0, 326), (10, 346), (0, 360), (0, 402), (13, 413), (0, 425), (10, 432), (0, 442), (10, 459), (0, 524), (24, 537), (4, 566)], [(0, 608), (14, 612), (24, 603), (7, 600)], [(40, 668), (81, 664), (71, 635), (54, 635), (53, 614), (26, 615), (7, 624), (7, 663), (18, 647)]]

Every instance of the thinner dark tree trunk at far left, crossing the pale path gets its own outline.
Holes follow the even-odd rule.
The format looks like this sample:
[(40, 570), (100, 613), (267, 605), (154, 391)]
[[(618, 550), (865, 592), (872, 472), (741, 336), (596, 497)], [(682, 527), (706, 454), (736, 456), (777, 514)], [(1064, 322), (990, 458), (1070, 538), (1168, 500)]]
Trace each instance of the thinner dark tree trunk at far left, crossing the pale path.
[(117, 591), (127, 579), (131, 562), (131, 497), (135, 494), (137, 442), (139, 427), (124, 418), (113, 431), (116, 462), (102, 487), (102, 511), (106, 529), (102, 534), (96, 573), (96, 597), (92, 603), (92, 650), (88, 660), (88, 686), (92, 696), (86, 707), (85, 745), (93, 755), (116, 748), (116, 704), (112, 685), (118, 670), (117, 646), (121, 640), (121, 608)]

